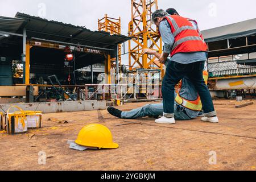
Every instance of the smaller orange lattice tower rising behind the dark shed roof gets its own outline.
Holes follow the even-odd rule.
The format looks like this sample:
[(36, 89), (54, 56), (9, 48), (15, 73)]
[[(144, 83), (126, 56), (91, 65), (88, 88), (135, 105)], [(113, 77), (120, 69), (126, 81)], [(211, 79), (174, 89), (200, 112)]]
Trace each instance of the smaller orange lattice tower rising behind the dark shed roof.
[[(121, 18), (110, 18), (107, 14), (105, 14), (105, 17), (102, 19), (98, 19), (98, 30), (99, 31), (105, 31), (109, 32), (110, 35), (121, 35)], [(118, 60), (119, 65), (122, 64), (121, 60), (121, 49), (122, 46), (119, 44), (118, 46)], [(115, 62), (115, 58), (111, 60), (112, 63)], [(112, 64), (112, 67), (114, 67), (114, 64)]]

